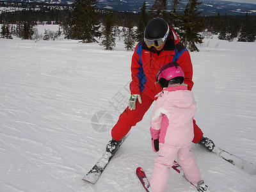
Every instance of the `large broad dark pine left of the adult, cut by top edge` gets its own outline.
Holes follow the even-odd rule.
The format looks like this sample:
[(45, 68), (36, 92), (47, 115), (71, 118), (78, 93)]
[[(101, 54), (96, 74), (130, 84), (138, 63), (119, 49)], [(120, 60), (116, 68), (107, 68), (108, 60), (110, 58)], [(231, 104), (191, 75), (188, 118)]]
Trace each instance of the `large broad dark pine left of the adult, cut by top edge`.
[(96, 0), (76, 0), (73, 3), (71, 24), (68, 26), (70, 38), (83, 43), (97, 42), (95, 36), (100, 36), (100, 22), (96, 5)]

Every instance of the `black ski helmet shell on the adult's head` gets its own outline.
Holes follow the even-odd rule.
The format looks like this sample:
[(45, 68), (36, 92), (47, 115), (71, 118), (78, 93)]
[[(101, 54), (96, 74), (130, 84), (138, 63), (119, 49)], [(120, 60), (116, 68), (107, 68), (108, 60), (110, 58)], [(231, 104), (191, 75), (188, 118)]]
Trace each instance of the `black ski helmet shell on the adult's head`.
[(145, 28), (144, 37), (148, 40), (163, 38), (168, 31), (168, 23), (162, 18), (154, 18), (150, 20)]

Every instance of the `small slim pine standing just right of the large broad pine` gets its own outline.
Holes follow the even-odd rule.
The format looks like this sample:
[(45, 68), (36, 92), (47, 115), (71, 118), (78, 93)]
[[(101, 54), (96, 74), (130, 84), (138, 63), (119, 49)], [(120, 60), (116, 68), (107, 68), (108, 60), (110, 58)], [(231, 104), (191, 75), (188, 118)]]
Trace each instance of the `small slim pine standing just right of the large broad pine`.
[(102, 30), (103, 40), (100, 45), (105, 47), (106, 50), (112, 50), (115, 47), (115, 31), (112, 19), (112, 14), (109, 12), (108, 16), (104, 20), (104, 26)]

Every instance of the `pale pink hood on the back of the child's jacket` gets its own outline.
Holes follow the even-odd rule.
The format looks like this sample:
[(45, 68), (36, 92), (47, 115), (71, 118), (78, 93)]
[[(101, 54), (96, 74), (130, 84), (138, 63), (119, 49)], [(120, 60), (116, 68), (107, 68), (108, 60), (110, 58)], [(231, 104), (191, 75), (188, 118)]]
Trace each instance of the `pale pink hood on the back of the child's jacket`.
[(163, 98), (179, 108), (189, 108), (195, 104), (193, 93), (188, 90), (186, 85), (164, 88), (156, 97)]

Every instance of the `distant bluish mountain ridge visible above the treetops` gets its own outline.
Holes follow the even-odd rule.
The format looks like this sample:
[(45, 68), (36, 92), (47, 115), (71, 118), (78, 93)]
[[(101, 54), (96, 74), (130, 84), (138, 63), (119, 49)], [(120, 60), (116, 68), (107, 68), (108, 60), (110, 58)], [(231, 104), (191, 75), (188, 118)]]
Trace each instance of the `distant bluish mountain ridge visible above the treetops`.
[[(1, 1), (1, 0), (0, 0)], [(50, 4), (66, 4), (74, 3), (74, 0), (16, 0), (18, 2), (33, 2), (33, 3), (50, 3)], [(109, 10), (116, 10), (120, 12), (140, 12), (140, 8), (145, 0), (99, 0), (97, 8), (104, 8)], [(182, 0), (180, 7), (186, 6), (186, 0)], [(229, 1), (218, 0), (202, 0), (202, 4), (198, 6), (202, 15), (256, 15), (256, 4), (250, 3), (236, 3)], [(147, 0), (147, 10), (150, 9), (154, 0)], [(172, 10), (171, 1), (168, 1), (168, 10)]]

